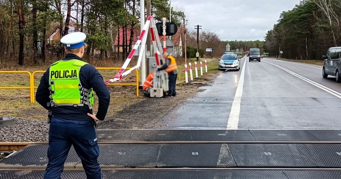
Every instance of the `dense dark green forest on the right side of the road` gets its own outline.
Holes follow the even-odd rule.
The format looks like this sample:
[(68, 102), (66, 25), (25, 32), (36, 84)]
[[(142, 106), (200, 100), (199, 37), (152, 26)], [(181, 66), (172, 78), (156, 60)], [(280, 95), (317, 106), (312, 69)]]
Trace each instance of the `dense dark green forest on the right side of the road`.
[(267, 32), (265, 49), (289, 59), (322, 59), (341, 45), (341, 0), (303, 0)]

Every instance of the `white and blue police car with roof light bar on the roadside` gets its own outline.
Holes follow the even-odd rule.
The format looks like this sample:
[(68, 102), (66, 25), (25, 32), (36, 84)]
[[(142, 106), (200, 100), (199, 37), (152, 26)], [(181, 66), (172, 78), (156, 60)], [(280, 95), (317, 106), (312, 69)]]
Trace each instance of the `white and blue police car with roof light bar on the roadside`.
[(240, 70), (238, 55), (233, 52), (225, 52), (218, 60), (218, 70)]

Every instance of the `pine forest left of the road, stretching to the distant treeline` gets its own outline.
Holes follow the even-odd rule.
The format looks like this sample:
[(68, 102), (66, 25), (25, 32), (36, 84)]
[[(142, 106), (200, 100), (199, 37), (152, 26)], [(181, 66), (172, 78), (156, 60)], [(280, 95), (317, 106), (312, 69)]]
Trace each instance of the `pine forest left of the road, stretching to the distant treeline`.
[[(120, 61), (132, 50), (133, 36), (123, 33), (123, 46), (120, 52), (114, 47), (119, 29), (123, 32), (140, 29), (139, 0), (0, 0), (0, 63), (36, 65), (62, 58), (63, 45), (59, 40), (47, 44), (46, 37), (56, 28), (59, 37), (69, 33), (71, 28), (85, 32), (85, 59)], [(148, 0), (147, 0), (148, 2)], [(152, 0), (150, 13), (157, 21), (169, 17), (168, 0)], [(146, 5), (147, 3), (145, 3)], [(186, 10), (172, 7), (172, 22), (182, 31)], [(145, 18), (147, 12), (145, 12)], [(195, 56), (196, 30), (186, 21), (188, 57)], [(189, 28), (190, 25), (190, 28)], [(192, 28), (193, 26), (193, 28)], [(264, 48), (263, 41), (223, 41), (216, 32), (204, 30), (199, 34), (199, 51), (202, 56), (220, 57), (227, 43), (231, 50), (246, 51), (248, 48)], [(120, 42), (119, 42), (120, 43)], [(121, 42), (122, 43), (122, 42)], [(206, 53), (206, 48), (213, 48)], [(184, 50), (184, 48), (183, 48)], [(183, 53), (184, 54), (184, 53)]]

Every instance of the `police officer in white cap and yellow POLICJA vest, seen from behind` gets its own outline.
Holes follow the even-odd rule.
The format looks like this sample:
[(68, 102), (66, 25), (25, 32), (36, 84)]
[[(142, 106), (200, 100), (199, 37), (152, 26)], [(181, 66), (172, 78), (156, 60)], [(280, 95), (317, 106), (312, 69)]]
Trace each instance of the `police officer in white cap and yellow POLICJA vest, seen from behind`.
[[(95, 125), (104, 120), (110, 95), (102, 75), (81, 59), (85, 38), (84, 33), (74, 32), (60, 40), (66, 56), (47, 69), (37, 89), (36, 101), (50, 111), (44, 179), (60, 179), (71, 145), (87, 179), (102, 178)], [(99, 101), (97, 114), (92, 112), (94, 92)]]

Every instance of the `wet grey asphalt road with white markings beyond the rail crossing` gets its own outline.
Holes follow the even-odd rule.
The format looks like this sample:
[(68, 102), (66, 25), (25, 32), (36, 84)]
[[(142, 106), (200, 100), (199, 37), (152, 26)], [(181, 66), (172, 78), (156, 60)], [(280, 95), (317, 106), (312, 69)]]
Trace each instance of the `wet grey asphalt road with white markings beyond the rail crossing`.
[(341, 83), (322, 78), (321, 66), (243, 58), (240, 71), (221, 72), (205, 89), (158, 123), (172, 129), (341, 129)]

